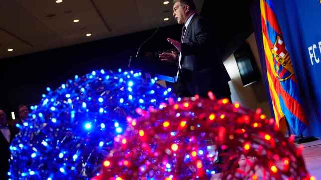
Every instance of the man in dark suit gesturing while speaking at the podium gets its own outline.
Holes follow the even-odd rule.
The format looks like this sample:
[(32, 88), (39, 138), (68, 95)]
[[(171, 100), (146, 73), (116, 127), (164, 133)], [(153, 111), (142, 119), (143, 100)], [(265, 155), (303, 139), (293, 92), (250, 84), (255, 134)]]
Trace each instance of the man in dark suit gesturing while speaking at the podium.
[(207, 97), (212, 91), (217, 98), (231, 96), (228, 81), (230, 77), (218, 53), (214, 28), (196, 13), (193, 0), (174, 0), (173, 16), (184, 24), (181, 42), (168, 38), (179, 54), (162, 53), (163, 61), (178, 64), (178, 80), (174, 91), (178, 96), (191, 97), (195, 94)]

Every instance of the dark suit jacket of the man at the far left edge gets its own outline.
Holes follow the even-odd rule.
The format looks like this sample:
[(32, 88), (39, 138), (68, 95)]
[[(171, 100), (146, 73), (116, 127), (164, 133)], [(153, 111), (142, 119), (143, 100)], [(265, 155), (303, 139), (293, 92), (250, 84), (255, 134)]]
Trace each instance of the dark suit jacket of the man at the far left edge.
[(9, 170), (9, 156), (10, 156), (10, 143), (19, 132), (17, 127), (8, 126), (10, 131), (10, 142), (8, 142), (5, 136), (0, 132), (0, 179), (7, 179), (7, 172)]

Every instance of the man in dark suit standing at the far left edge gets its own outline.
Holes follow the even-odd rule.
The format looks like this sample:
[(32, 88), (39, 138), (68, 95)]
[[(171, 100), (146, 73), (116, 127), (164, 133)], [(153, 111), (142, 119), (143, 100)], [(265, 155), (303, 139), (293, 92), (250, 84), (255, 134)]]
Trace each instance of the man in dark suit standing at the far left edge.
[(18, 132), (16, 127), (8, 125), (5, 112), (0, 110), (0, 179), (8, 179), (9, 146)]

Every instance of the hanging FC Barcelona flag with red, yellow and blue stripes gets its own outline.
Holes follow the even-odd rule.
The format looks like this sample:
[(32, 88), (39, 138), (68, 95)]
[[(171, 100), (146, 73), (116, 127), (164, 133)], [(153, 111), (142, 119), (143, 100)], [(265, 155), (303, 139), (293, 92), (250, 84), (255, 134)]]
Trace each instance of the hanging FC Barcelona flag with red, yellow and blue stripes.
[(260, 0), (269, 92), (277, 125), (285, 118), (296, 135), (306, 128), (296, 76), (271, 0)]

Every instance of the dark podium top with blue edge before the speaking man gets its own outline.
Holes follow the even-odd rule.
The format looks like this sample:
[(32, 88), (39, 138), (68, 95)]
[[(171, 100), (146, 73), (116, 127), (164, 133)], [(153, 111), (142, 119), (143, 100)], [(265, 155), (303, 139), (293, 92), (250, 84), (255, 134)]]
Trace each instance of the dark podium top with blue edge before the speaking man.
[(171, 83), (177, 81), (178, 68), (175, 65), (169, 62), (162, 62), (151, 56), (130, 56), (128, 67), (144, 73), (146, 77), (157, 77), (159, 80)]

